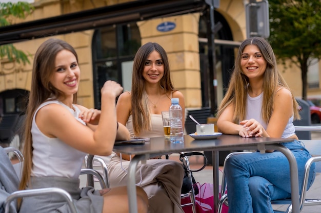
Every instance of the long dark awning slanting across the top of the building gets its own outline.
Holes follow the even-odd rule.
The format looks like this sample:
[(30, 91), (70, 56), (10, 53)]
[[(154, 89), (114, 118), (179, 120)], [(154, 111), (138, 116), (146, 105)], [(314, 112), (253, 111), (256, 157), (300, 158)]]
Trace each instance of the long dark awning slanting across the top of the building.
[(0, 28), (0, 45), (206, 9), (206, 0), (137, 0)]

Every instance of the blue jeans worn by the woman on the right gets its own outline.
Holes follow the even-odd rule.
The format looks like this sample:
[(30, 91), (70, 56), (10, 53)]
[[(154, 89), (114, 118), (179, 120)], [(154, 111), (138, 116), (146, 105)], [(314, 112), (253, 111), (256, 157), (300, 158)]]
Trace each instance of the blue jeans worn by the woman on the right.
[[(298, 140), (283, 143), (296, 158), (299, 188), (304, 178), (305, 163), (311, 157)], [(286, 156), (278, 151), (231, 156), (225, 164), (229, 213), (273, 213), (271, 200), (291, 198), (290, 168)], [(308, 188), (315, 178), (311, 166)]]

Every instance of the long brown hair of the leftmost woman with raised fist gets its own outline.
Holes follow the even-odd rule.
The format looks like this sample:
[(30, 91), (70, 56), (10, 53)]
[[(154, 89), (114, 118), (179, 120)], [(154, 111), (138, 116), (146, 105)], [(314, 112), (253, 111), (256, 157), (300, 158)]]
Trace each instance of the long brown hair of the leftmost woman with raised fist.
[[(36, 109), (47, 99), (64, 98), (65, 94), (56, 89), (51, 83), (55, 70), (56, 55), (62, 51), (68, 50), (74, 54), (78, 62), (78, 56), (70, 44), (63, 40), (50, 38), (43, 42), (35, 53), (32, 68), (31, 90), (24, 124), (24, 168), (23, 175), (19, 185), (19, 190), (24, 190), (30, 180), (32, 170), (32, 135), (31, 126), (33, 115)], [(73, 103), (76, 103), (77, 94), (73, 96)]]

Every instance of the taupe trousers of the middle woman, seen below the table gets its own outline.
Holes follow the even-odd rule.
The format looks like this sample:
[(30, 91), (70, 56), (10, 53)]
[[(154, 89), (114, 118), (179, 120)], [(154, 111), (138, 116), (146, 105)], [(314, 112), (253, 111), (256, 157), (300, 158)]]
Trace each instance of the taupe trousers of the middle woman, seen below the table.
[[(108, 163), (108, 178), (111, 187), (127, 185), (127, 170), (130, 161), (117, 155)], [(126, 170), (126, 171), (124, 171)], [(180, 206), (180, 190), (183, 184), (182, 163), (150, 159), (138, 164), (136, 185), (141, 186), (148, 195), (149, 213), (184, 213)]]

